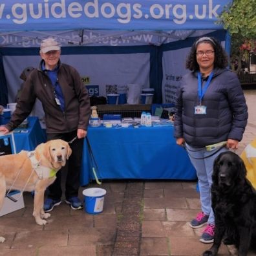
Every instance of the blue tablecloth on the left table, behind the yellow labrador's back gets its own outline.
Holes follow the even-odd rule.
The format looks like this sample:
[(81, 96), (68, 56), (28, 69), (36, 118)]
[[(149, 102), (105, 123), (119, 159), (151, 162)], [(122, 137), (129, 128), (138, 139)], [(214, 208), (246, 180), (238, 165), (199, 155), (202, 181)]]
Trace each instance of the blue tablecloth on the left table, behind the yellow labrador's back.
[[(26, 129), (16, 129), (16, 131), (21, 131), (19, 133), (14, 131), (16, 153), (19, 153), (21, 150), (32, 151), (37, 145), (46, 141), (45, 132), (41, 129), (36, 116), (28, 117), (28, 127)], [(28, 131), (28, 133), (24, 133), (24, 131)]]

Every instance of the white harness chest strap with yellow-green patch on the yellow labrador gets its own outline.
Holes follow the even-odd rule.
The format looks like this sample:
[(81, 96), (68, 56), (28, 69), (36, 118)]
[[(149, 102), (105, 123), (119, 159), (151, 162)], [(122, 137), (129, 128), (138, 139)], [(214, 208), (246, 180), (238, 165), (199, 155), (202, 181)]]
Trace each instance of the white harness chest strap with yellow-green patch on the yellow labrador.
[(55, 169), (42, 166), (40, 161), (36, 160), (35, 151), (28, 152), (28, 158), (30, 159), (32, 167), (34, 171), (36, 171), (40, 180), (43, 178), (53, 178), (56, 176), (57, 171)]

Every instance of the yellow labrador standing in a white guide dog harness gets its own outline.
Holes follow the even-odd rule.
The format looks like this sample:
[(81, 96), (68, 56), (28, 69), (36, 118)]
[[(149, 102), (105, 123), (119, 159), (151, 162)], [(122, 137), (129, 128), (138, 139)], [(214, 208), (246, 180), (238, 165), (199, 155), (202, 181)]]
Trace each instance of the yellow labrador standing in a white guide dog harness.
[[(50, 213), (43, 211), (44, 193), (56, 179), (56, 173), (66, 164), (72, 150), (64, 140), (50, 140), (35, 151), (0, 156), (0, 209), (6, 190), (35, 191), (33, 216), (39, 225), (47, 224)], [(0, 237), (0, 242), (5, 238)]]

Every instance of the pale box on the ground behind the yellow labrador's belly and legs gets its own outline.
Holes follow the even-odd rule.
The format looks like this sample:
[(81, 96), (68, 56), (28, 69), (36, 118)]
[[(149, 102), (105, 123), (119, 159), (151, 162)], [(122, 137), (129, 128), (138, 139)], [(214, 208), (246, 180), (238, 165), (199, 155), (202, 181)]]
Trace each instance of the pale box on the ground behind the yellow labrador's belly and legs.
[(21, 195), (21, 192), (16, 190), (16, 191), (10, 192), (9, 195), (15, 198), (17, 202), (13, 202), (9, 198), (5, 197), (3, 207), (0, 210), (0, 217), (8, 213), (12, 213), (13, 211), (17, 211), (18, 209), (25, 208), (24, 199), (23, 199), (23, 195)]

